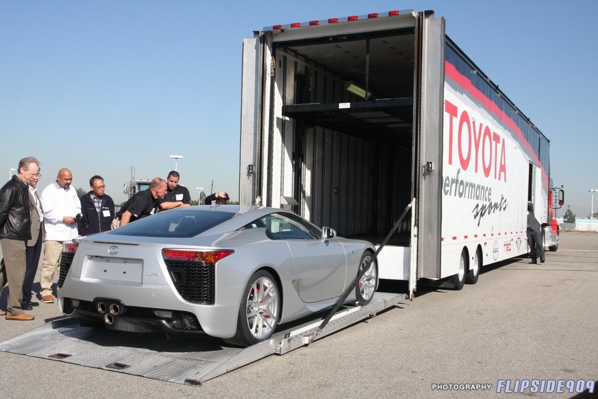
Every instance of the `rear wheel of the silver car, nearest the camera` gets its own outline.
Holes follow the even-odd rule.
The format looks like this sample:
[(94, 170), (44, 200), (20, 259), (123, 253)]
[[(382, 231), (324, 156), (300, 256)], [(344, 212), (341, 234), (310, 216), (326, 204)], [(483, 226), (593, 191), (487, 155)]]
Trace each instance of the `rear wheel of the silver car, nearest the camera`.
[(266, 270), (258, 270), (245, 285), (236, 334), (224, 341), (231, 345), (251, 346), (269, 339), (280, 318), (281, 304), (276, 279)]

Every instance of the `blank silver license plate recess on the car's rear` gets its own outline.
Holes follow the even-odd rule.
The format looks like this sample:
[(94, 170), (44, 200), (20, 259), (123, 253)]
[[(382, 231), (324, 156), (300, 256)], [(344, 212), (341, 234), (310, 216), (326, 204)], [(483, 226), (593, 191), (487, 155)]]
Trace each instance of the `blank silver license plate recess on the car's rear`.
[(143, 261), (140, 259), (90, 257), (84, 277), (141, 283)]

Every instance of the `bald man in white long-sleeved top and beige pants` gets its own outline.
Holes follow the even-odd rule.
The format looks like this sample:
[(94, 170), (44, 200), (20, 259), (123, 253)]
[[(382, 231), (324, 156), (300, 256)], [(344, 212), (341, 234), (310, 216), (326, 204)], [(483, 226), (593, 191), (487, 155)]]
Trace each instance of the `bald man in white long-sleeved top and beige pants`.
[(41, 267), (41, 291), (44, 303), (54, 303), (52, 283), (62, 255), (62, 243), (79, 236), (77, 218), (81, 218), (81, 202), (71, 188), (71, 170), (60, 169), (56, 181), (44, 188), (41, 205), (44, 209), (45, 249)]

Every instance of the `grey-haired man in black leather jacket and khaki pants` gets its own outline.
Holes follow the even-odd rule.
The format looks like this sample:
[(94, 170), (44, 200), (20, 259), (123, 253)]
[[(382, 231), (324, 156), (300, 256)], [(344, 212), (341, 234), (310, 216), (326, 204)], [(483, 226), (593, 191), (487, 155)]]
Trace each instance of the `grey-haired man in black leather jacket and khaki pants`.
[[(4, 258), (0, 262), (0, 287), (10, 286), (7, 310), (0, 312), (7, 320), (33, 320), (23, 312), (23, 279), (26, 270), (26, 240), (31, 239), (29, 182), (39, 173), (34, 157), (19, 162), (17, 174), (0, 189), (0, 245)], [(0, 289), (1, 289), (0, 288)]]

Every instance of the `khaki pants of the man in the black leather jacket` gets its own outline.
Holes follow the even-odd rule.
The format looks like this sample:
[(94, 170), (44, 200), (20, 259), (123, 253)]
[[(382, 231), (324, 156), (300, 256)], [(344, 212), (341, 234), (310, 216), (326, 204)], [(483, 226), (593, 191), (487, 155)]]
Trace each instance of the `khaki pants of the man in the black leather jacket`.
[(25, 279), (26, 257), (25, 240), (11, 240), (1, 238), (2, 255), (0, 262), (0, 290), (8, 283), (8, 300), (6, 314), (19, 316), (23, 314), (21, 300), (23, 299), (23, 279)]

